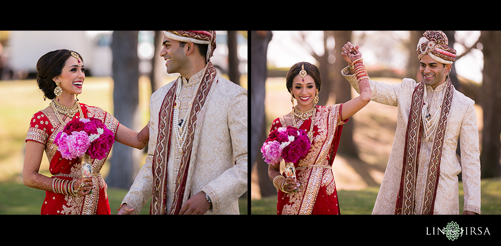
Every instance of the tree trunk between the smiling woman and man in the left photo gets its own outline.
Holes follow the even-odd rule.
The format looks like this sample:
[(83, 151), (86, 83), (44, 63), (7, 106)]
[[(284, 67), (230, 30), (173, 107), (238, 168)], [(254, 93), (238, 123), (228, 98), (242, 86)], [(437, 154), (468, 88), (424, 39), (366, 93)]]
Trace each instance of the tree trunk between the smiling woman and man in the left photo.
[[(111, 44), (113, 115), (120, 124), (136, 131), (140, 130), (138, 33), (138, 31), (114, 31)], [(128, 189), (138, 173), (140, 155), (140, 150), (115, 142), (110, 160), (110, 173), (106, 181), (108, 186)]]

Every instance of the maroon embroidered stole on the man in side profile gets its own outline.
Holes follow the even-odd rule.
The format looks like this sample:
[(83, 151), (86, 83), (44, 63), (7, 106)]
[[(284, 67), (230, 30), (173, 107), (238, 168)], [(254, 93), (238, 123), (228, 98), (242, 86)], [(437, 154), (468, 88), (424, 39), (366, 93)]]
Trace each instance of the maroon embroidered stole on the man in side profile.
[[(179, 166), (178, 175), (175, 177), (174, 193), (172, 194), (172, 201), (167, 200), (167, 189), (169, 184), (167, 183), (167, 162), (169, 159), (169, 149), (170, 149), (170, 138), (172, 134), (173, 123), (173, 113), (174, 113), (174, 100), (175, 92), (177, 88), (177, 83), (169, 89), (167, 92), (162, 106), (160, 107), (159, 117), (158, 117), (158, 137), (157, 144), (155, 148), (155, 153), (153, 155), (152, 171), (153, 171), (153, 197), (151, 200), (150, 214), (178, 214), (181, 209), (183, 197), (186, 188), (186, 181), (188, 179), (188, 171), (190, 164), (190, 157), (192, 154), (192, 149), (195, 138), (195, 129), (198, 121), (203, 119), (198, 119), (198, 112), (202, 109), (206, 102), (207, 94), (214, 82), (216, 75), (216, 70), (212, 63), (208, 63), (205, 71), (203, 73), (200, 85), (195, 95), (193, 105), (186, 122), (187, 139), (186, 146), (181, 156), (181, 163)], [(177, 146), (176, 146), (177, 148)], [(171, 202), (170, 211), (167, 211), (167, 202)]]

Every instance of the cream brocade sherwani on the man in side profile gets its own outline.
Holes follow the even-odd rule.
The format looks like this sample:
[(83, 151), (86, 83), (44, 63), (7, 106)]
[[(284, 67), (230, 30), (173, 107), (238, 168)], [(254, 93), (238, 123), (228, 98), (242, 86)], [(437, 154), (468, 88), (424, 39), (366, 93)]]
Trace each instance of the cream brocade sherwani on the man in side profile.
[[(202, 70), (203, 71), (203, 70)], [(180, 117), (187, 113), (200, 86), (202, 71), (184, 80), (180, 92)], [(216, 83), (217, 81), (217, 83)], [(152, 159), (156, 149), (159, 109), (173, 81), (155, 91), (150, 98), (150, 140), (146, 162), (123, 199), (135, 208), (134, 214), (152, 197)], [(205, 214), (238, 214), (238, 198), (247, 190), (247, 90), (216, 75), (201, 112), (203, 122), (197, 122), (196, 159), (188, 176), (186, 192), (191, 195), (204, 191), (212, 201)], [(179, 170), (179, 150), (175, 134), (171, 134), (167, 164), (167, 200), (172, 200), (174, 179)], [(183, 201), (183, 203), (185, 200)], [(170, 204), (167, 211), (170, 210)]]

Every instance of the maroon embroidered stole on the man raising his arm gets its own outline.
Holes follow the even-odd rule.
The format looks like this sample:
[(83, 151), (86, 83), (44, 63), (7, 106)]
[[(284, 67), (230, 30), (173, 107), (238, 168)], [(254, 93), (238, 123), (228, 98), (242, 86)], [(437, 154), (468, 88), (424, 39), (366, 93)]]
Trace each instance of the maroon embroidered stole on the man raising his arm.
[[(442, 102), (439, 122), (433, 140), (433, 147), (430, 156), (426, 175), (426, 185), (423, 200), (423, 214), (433, 214), (435, 205), (438, 178), (440, 175), (440, 157), (442, 155), (445, 129), (447, 126), (447, 116), (450, 111), (454, 86), (447, 77), (445, 95)], [(415, 186), (419, 166), (419, 150), (421, 148), (423, 123), (421, 109), (424, 103), (424, 83), (419, 83), (412, 94), (411, 110), (409, 121), (407, 122), (407, 132), (405, 134), (404, 156), (402, 160), (402, 176), (400, 178), (400, 189), (398, 191), (395, 214), (413, 214), (415, 205)]]

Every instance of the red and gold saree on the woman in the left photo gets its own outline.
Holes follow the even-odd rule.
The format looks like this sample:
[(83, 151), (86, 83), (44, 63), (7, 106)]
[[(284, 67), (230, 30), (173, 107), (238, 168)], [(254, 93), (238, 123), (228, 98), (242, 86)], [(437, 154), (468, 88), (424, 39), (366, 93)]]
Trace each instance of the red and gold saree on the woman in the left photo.
[[(119, 122), (115, 117), (98, 107), (92, 107), (80, 103), (84, 118), (98, 118), (116, 134)], [(74, 118), (80, 118), (80, 112)], [(41, 110), (33, 115), (30, 122), (26, 141), (35, 141), (46, 146), (45, 152), (50, 160), (49, 170), (54, 178), (74, 180), (82, 177), (80, 158), (67, 160), (62, 158), (54, 143), (57, 133), (63, 130), (65, 125), (72, 119), (68, 118), (62, 124), (56, 125), (54, 120), (45, 110)], [(85, 196), (71, 196), (65, 194), (46, 191), (46, 197), (42, 204), (42, 214), (111, 214), (107, 185), (102, 175), (99, 173), (108, 157), (109, 152), (101, 160), (92, 161), (92, 181), (94, 189), (91, 194)]]

